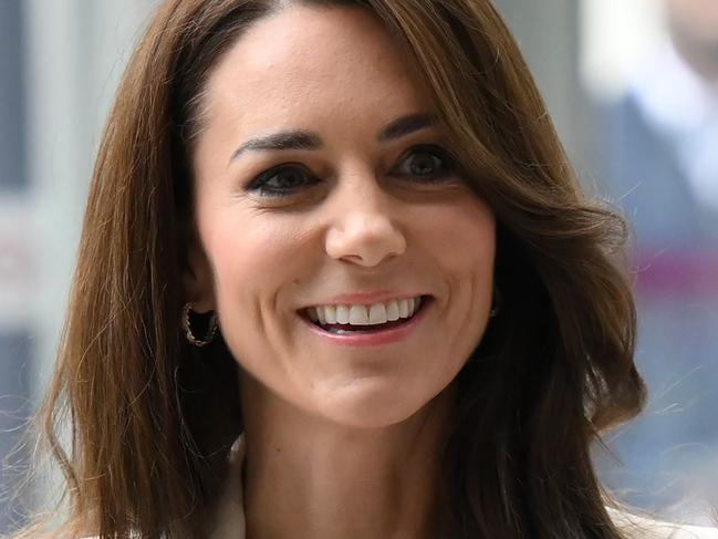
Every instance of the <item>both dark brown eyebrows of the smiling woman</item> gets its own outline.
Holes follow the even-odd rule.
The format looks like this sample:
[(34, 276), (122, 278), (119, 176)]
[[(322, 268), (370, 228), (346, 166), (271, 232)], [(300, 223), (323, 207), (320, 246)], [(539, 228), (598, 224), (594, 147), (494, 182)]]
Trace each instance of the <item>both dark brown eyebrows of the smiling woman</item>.
[[(437, 125), (437, 118), (430, 113), (415, 113), (402, 116), (385, 125), (376, 136), (378, 142), (388, 142), (410, 135), (427, 127)], [(269, 135), (250, 138), (239, 146), (229, 158), (230, 163), (246, 152), (279, 152), (282, 149), (320, 149), (322, 138), (309, 131), (281, 131)]]

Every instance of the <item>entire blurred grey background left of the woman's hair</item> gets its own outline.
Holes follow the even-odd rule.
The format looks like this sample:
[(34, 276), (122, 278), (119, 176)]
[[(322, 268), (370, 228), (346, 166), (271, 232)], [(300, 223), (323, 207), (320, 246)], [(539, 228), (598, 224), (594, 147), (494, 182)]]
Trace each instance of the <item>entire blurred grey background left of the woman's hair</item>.
[[(155, 4), (0, 0), (0, 460), (44, 393), (97, 141)], [(0, 535), (15, 471), (0, 467)]]

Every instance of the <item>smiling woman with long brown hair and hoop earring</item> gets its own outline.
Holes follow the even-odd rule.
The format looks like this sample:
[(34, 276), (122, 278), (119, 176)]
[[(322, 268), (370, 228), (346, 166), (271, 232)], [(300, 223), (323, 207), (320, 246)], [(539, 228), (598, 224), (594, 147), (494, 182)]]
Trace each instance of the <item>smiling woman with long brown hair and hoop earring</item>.
[(637, 536), (590, 458), (644, 398), (623, 234), (488, 0), (165, 2), (42, 410), (60, 533)]

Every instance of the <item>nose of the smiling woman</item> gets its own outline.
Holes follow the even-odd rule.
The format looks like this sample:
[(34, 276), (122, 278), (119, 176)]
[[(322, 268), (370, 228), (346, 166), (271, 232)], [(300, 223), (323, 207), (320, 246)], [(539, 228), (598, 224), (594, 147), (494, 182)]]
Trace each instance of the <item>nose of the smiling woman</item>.
[(326, 253), (336, 260), (374, 267), (406, 250), (406, 238), (393, 217), (395, 201), (365, 176), (361, 187), (346, 185), (326, 234)]

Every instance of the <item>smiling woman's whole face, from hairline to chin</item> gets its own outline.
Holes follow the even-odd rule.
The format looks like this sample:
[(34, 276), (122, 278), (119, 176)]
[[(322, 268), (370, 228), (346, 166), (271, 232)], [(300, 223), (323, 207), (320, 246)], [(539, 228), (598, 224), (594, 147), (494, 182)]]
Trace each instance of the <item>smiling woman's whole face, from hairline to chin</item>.
[[(268, 395), (344, 425), (389, 425), (446, 388), (479, 343), (495, 218), (443, 157), (433, 112), (356, 8), (288, 8), (218, 62), (194, 153), (190, 299), (218, 311)], [(406, 315), (395, 300), (419, 297), (414, 317), (362, 325)], [(329, 308), (308, 311), (318, 305)], [(332, 311), (355, 324), (310, 320)]]

